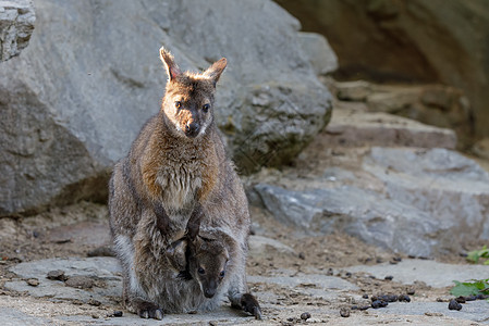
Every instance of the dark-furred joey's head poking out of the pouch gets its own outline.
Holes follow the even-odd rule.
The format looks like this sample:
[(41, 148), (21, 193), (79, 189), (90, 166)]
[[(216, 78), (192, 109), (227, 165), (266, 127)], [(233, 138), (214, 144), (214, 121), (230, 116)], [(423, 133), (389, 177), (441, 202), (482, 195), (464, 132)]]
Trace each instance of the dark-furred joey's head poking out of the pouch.
[(188, 268), (206, 298), (212, 298), (225, 278), (229, 250), (219, 239), (197, 237), (191, 244)]

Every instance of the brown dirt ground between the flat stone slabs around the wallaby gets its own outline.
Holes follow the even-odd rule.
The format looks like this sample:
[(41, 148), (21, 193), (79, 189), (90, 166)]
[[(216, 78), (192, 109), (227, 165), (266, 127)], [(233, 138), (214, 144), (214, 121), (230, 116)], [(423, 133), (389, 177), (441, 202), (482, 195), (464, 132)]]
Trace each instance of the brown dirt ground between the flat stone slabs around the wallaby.
[[(418, 301), (436, 301), (440, 298), (447, 300), (448, 298), (448, 288), (432, 289), (423, 283), (406, 287), (396, 283), (395, 279), (371, 278), (369, 275), (350, 274), (342, 269), (358, 264), (380, 262), (395, 264), (405, 259), (403, 255), (368, 246), (344, 234), (320, 237), (299, 235), (294, 229), (276, 222), (268, 212), (254, 206), (250, 209), (254, 221), (253, 231), (279, 240), (294, 249), (296, 254), (281, 254), (273, 250), (267, 250), (266, 253), (258, 256), (249, 255), (248, 275), (271, 276), (282, 269), (295, 271), (295, 273), (321, 271), (326, 275), (340, 276), (358, 286), (359, 290), (355, 293), (367, 294), (368, 298), (378, 293), (407, 292), (414, 292)], [(8, 271), (14, 264), (47, 258), (87, 256), (94, 249), (103, 248), (109, 242), (107, 216), (108, 212), (105, 205), (81, 202), (32, 217), (1, 218), (0, 306), (15, 308), (39, 317), (90, 315), (93, 318), (103, 318), (113, 311), (121, 310), (118, 302), (120, 298), (113, 298), (111, 305), (95, 306), (76, 302), (76, 300), (52, 302), (49, 298), (35, 299), (26, 293), (8, 291), (3, 288), (4, 283), (14, 276)], [(466, 263), (465, 259), (460, 255), (441, 256), (438, 260), (449, 263)], [(303, 286), (307, 287), (308, 285)], [(274, 284), (256, 284), (250, 290), (252, 292), (269, 291), (278, 296), (279, 300), (276, 302), (264, 302), (264, 314), (268, 316), (269, 322), (282, 325), (303, 323), (299, 315), (305, 309), (320, 311), (322, 308), (327, 308), (339, 312), (344, 306), (369, 304), (369, 299), (353, 300), (351, 294), (355, 293), (340, 296), (337, 300), (322, 300)], [(286, 313), (283, 308), (286, 308)], [(320, 316), (320, 313), (316, 313), (316, 316)], [(368, 315), (367, 311), (352, 311), (352, 323), (359, 317), (362, 317), (362, 323), (369, 323), (369, 318), (372, 324), (378, 323), (378, 319), (374, 318), (371, 313)], [(328, 322), (328, 315), (322, 315), (319, 319), (310, 321)], [(423, 319), (423, 316), (414, 318)], [(337, 322), (338, 324), (343, 323), (341, 319)], [(66, 325), (72, 324), (66, 322)]]

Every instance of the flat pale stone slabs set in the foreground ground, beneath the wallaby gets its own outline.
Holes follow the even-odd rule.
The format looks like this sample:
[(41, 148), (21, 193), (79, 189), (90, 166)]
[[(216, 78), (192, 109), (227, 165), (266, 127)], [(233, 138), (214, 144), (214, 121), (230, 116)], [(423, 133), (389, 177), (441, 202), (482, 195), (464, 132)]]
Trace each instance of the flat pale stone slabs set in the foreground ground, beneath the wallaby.
[[(50, 268), (62, 268), (68, 275), (85, 275), (96, 281), (105, 280), (106, 290), (97, 287), (90, 289), (73, 289), (63, 285), (62, 281), (52, 281), (45, 278), (46, 272)], [(440, 277), (439, 271), (445, 271)], [(118, 292), (121, 291), (121, 277), (118, 273), (118, 262), (112, 258), (91, 258), (91, 259), (64, 259), (64, 260), (41, 260), (29, 263), (22, 263), (13, 268), (16, 278), (34, 277), (40, 280), (37, 287), (28, 286), (24, 280), (13, 280), (5, 284), (5, 289), (15, 291), (25, 291), (30, 298), (45, 300), (42, 311), (26, 312), (25, 308), (15, 304), (19, 300), (29, 301), (29, 306), (35, 308), (41, 301), (32, 301), (30, 298), (12, 298), (10, 302), (4, 302), (0, 297), (0, 317), (5, 325), (45, 325), (46, 323), (78, 325), (157, 325), (158, 321), (143, 321), (138, 316), (122, 311), (121, 317), (114, 316), (118, 309)], [(367, 273), (379, 278), (384, 274), (393, 276), (393, 281), (398, 281), (399, 288), (403, 285), (416, 287), (416, 281), (424, 281), (428, 287), (443, 288), (449, 285), (451, 277), (457, 279), (470, 279), (484, 276), (484, 266), (459, 266), (441, 264), (432, 261), (407, 260), (396, 265), (380, 264), (371, 266), (351, 266), (347, 271), (354, 273), (351, 278), (339, 276), (326, 276), (314, 273), (292, 273), (292, 271), (282, 269), (274, 272), (269, 276), (252, 275), (248, 283), (252, 287), (258, 289), (258, 296), (261, 306), (265, 311), (265, 319), (255, 321), (236, 310), (232, 310), (223, 303), (223, 306), (211, 313), (201, 314), (173, 314), (166, 315), (164, 323), (172, 325), (187, 325), (190, 323), (219, 323), (220, 325), (278, 325), (285, 318), (299, 319), (301, 312), (307, 312), (310, 315), (308, 322), (313, 323), (334, 323), (342, 325), (341, 316), (337, 309), (331, 306), (331, 302), (343, 302), (342, 306), (350, 311), (353, 305), (362, 305), (369, 300), (362, 298), (362, 291), (356, 285), (364, 278), (360, 273)], [(459, 271), (455, 272), (454, 271)], [(292, 273), (292, 274), (291, 274)], [(414, 289), (414, 288), (413, 288)], [(291, 296), (296, 302), (282, 305), (283, 293)], [(414, 290), (412, 290), (414, 291)], [(371, 296), (368, 293), (367, 296)], [(302, 298), (307, 298), (306, 300)], [(445, 298), (445, 297), (443, 297)], [(463, 304), (462, 311), (449, 311), (447, 302), (435, 302), (431, 297), (426, 297), (423, 291), (411, 297), (411, 302), (393, 302), (387, 308), (375, 310), (374, 314), (366, 314), (351, 311), (350, 324), (378, 324), (389, 323), (394, 325), (404, 325), (402, 322), (419, 323), (430, 321), (432, 325), (447, 325), (455, 323), (457, 325), (468, 325), (468, 322), (487, 322), (489, 313), (488, 303), (484, 300), (473, 301)], [(443, 301), (447, 299), (440, 299)], [(286, 300), (285, 300), (286, 301)], [(50, 315), (51, 302), (56, 302), (57, 313)], [(77, 313), (73, 313), (72, 306), (80, 306)], [(96, 303), (98, 302), (98, 303)], [(309, 302), (310, 304), (308, 304)], [(68, 304), (66, 304), (68, 303)], [(74, 304), (74, 305), (73, 305)], [(334, 304), (332, 304), (334, 305)], [(11, 308), (9, 308), (11, 306)], [(76, 309), (75, 309), (76, 311)], [(371, 312), (371, 310), (370, 310)], [(304, 315), (304, 313), (303, 313)], [(392, 318), (395, 316), (394, 323)], [(427, 318), (428, 317), (428, 318)], [(473, 324), (472, 324), (473, 325)]]

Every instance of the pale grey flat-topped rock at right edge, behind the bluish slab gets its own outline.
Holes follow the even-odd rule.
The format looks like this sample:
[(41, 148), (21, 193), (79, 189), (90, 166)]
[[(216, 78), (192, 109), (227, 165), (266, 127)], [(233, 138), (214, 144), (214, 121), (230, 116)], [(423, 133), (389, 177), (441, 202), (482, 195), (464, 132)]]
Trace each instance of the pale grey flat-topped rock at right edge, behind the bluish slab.
[(386, 185), (386, 195), (429, 214), (438, 238), (489, 239), (489, 174), (445, 149), (372, 148), (365, 171)]

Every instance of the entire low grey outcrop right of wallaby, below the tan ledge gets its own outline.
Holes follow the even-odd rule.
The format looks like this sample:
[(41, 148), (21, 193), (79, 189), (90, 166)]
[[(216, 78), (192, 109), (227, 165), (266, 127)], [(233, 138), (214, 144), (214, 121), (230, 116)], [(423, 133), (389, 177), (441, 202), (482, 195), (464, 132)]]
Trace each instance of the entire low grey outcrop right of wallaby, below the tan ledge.
[(281, 187), (258, 184), (255, 193), (298, 229), (342, 230), (417, 256), (460, 252), (462, 243), (489, 238), (489, 175), (474, 161), (445, 149), (372, 148), (339, 162), (354, 170), (295, 179), (285, 173), (269, 179)]

